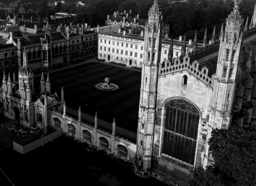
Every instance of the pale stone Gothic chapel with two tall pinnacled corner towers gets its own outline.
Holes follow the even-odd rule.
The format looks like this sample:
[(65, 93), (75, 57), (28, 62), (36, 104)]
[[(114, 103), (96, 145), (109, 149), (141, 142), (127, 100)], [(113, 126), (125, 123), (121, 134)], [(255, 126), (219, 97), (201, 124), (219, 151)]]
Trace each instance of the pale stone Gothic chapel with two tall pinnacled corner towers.
[[(138, 174), (187, 185), (196, 168), (213, 162), (207, 144), (213, 129), (256, 124), (256, 39), (250, 37), (255, 25), (250, 33), (242, 31), (240, 1), (234, 1), (234, 10), (221, 29), (218, 54), (207, 60), (191, 54), (197, 50), (196, 42), (190, 55), (183, 45), (181, 58), (174, 58), (170, 47), (167, 59), (161, 59), (165, 41), (161, 39), (161, 10), (154, 1), (143, 47)], [(250, 38), (245, 41), (245, 36)], [(204, 42), (201, 52), (210, 49)]]

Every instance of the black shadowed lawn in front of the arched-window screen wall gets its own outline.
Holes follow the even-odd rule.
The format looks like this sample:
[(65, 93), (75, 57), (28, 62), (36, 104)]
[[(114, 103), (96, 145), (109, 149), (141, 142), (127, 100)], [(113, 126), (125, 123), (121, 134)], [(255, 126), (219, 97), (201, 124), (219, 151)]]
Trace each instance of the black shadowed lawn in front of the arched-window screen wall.
[(15, 186), (166, 186), (155, 178), (136, 176), (130, 169), (131, 163), (86, 149), (88, 146), (68, 137), (55, 139), (24, 155), (10, 147), (0, 151), (0, 167)]

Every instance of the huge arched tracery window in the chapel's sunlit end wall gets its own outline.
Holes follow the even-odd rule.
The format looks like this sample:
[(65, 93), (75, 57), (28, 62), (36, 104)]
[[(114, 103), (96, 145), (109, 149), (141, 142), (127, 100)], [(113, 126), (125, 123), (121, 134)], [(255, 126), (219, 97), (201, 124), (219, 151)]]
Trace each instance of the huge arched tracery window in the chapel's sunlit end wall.
[(185, 99), (166, 103), (162, 153), (193, 165), (196, 151), (199, 111)]

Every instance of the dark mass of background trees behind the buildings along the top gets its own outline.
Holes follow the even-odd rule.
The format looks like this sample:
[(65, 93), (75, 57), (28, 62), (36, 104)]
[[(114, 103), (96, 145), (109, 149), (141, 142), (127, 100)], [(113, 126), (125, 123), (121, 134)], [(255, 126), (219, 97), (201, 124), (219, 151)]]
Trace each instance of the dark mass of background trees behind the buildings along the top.
[[(154, 0), (82, 0), (82, 2), (90, 4), (89, 9), (74, 4), (76, 0), (66, 0), (65, 4), (58, 4), (56, 8), (51, 10), (47, 8), (48, 1), (41, 0), (35, 8), (43, 17), (49, 17), (54, 12), (76, 13), (74, 20), (76, 23), (88, 23), (91, 27), (105, 26), (107, 15), (114, 12), (124, 12), (124, 10), (132, 10), (133, 16), (139, 14), (140, 18), (147, 19), (148, 11)], [(28, 2), (28, 0), (21, 0)], [(50, 1), (55, 2), (55, 1)], [(187, 2), (168, 3), (168, 0), (158, 0), (162, 9), (163, 17), (170, 24), (170, 34), (183, 35), (187, 32), (187, 37), (192, 38), (195, 30), (199, 32), (199, 38), (203, 38), (204, 29), (208, 27), (208, 31), (213, 30), (217, 25), (216, 32), (219, 32), (220, 25), (228, 14), (233, 10), (234, 2), (232, 0), (223, 3), (222, 0), (188, 0)], [(242, 0), (240, 11), (244, 19), (253, 14), (255, 1)], [(30, 6), (30, 5), (27, 5)], [(202, 29), (202, 30), (201, 30)]]

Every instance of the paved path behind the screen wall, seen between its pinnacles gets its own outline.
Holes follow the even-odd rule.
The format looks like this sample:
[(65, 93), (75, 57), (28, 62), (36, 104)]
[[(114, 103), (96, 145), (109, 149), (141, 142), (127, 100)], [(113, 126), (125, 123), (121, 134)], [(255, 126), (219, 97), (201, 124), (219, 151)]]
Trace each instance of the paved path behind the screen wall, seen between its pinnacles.
[[(70, 107), (66, 107), (66, 113), (69, 116), (75, 116), (76, 119), (78, 119), (78, 110), (72, 109)], [(82, 120), (85, 120), (86, 122), (92, 123), (94, 125), (94, 116), (91, 116), (86, 113), (81, 113), (81, 118)], [(112, 133), (112, 123), (106, 122), (104, 120), (100, 120), (98, 118), (98, 126), (100, 128), (106, 129)], [(136, 143), (137, 139), (137, 133), (132, 132), (130, 130), (127, 130), (123, 127), (117, 126), (116, 125), (116, 134), (120, 135), (120, 137), (124, 137), (125, 139), (131, 140), (133, 143)]]

